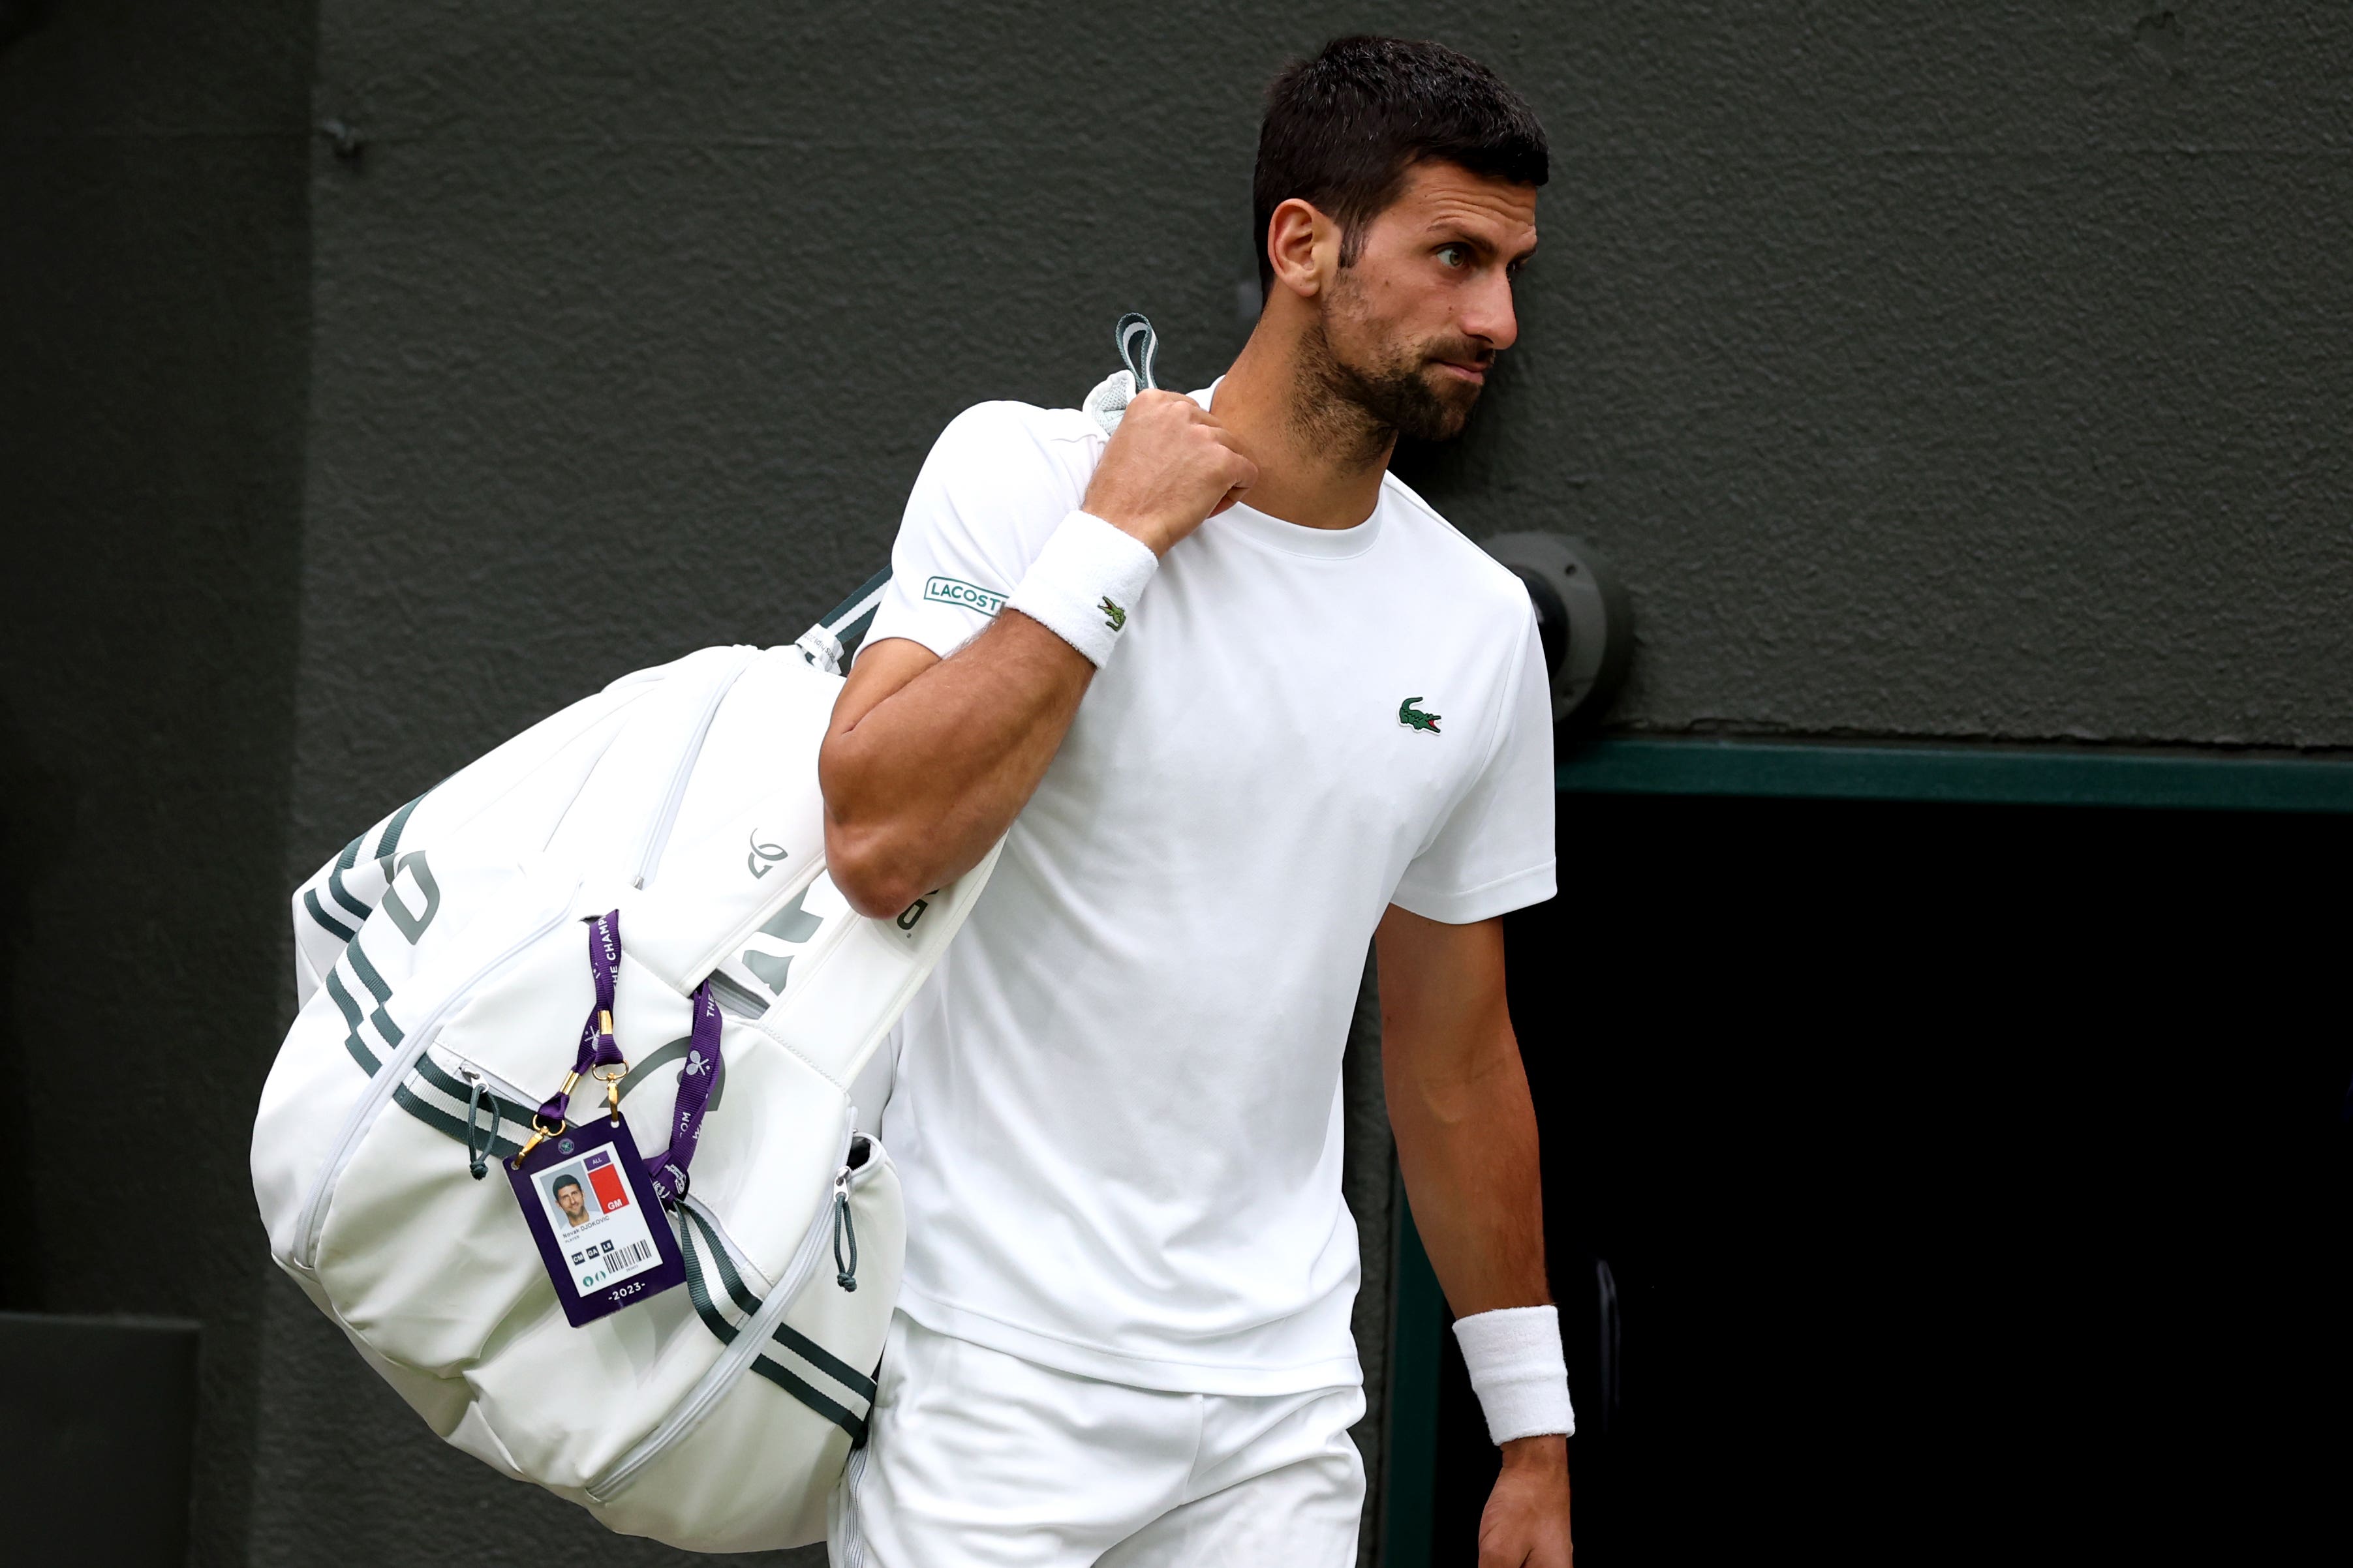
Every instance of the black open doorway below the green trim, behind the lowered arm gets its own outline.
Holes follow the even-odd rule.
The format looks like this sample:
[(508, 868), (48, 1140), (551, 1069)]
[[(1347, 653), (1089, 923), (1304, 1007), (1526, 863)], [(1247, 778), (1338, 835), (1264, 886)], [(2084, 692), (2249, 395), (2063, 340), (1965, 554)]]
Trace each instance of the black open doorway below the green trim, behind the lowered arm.
[(1581, 1568), (2341, 1561), (2353, 818), (1562, 795), (1560, 846), (1508, 940)]

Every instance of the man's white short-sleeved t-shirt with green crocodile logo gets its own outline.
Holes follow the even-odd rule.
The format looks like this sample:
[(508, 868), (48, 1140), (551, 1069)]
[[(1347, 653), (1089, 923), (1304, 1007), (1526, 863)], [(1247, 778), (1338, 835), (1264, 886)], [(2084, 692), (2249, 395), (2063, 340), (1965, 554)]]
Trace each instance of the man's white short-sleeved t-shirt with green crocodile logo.
[[(868, 646), (946, 656), (986, 628), (1104, 444), (1075, 409), (958, 416)], [(1461, 924), (1551, 896), (1520, 581), (1398, 480), (1353, 529), (1212, 517), (899, 1025), (901, 1307), (1153, 1389), (1360, 1380), (1341, 1048), (1372, 929), (1391, 903)]]

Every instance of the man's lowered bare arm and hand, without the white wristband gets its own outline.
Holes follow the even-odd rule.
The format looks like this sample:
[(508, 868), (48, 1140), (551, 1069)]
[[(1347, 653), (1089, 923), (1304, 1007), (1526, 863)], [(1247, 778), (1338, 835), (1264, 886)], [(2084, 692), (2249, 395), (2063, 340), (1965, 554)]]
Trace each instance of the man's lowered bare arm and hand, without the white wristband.
[[(1374, 936), (1381, 1081), (1398, 1168), (1438, 1284), (1457, 1316), (1539, 1307), (1544, 1182), (1537, 1107), (1504, 1001), (1504, 926), (1447, 926), (1391, 905)], [(1560, 1436), (1504, 1443), (1480, 1521), (1480, 1568), (1567, 1568), (1569, 1450)]]

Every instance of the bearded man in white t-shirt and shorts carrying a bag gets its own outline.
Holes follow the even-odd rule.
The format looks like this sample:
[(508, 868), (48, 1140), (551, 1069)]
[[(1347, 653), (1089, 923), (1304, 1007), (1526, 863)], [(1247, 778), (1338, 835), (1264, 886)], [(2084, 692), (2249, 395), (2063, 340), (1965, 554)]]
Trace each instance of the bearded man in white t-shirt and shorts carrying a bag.
[(1355, 1561), (1339, 1070), (1377, 938), (1405, 1185), (1504, 1443), (1480, 1561), (1567, 1566), (1497, 922), (1553, 893), (1544, 658), (1386, 473), (1513, 343), (1544, 179), (1482, 66), (1339, 40), (1268, 94), (1233, 369), (1108, 442), (981, 404), (925, 463), (826, 849), (868, 914), (1005, 856), (901, 1023), (906, 1286), (835, 1563)]

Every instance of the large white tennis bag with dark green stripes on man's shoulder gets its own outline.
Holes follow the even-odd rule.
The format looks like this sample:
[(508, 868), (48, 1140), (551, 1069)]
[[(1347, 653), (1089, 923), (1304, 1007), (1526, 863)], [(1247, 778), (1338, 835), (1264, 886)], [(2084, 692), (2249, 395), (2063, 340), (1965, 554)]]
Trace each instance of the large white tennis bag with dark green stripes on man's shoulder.
[[(271, 1253), (442, 1439), (626, 1535), (819, 1540), (864, 1441), (904, 1218), (852, 1086), (995, 863), (896, 919), (826, 877), (816, 748), (882, 581), (798, 646), (574, 703), (294, 896), (301, 1016), (252, 1152)], [(572, 1081), (607, 912), (626, 1074)], [(574, 1328), (506, 1168), (534, 1114), (614, 1105), (687, 1281)]]

